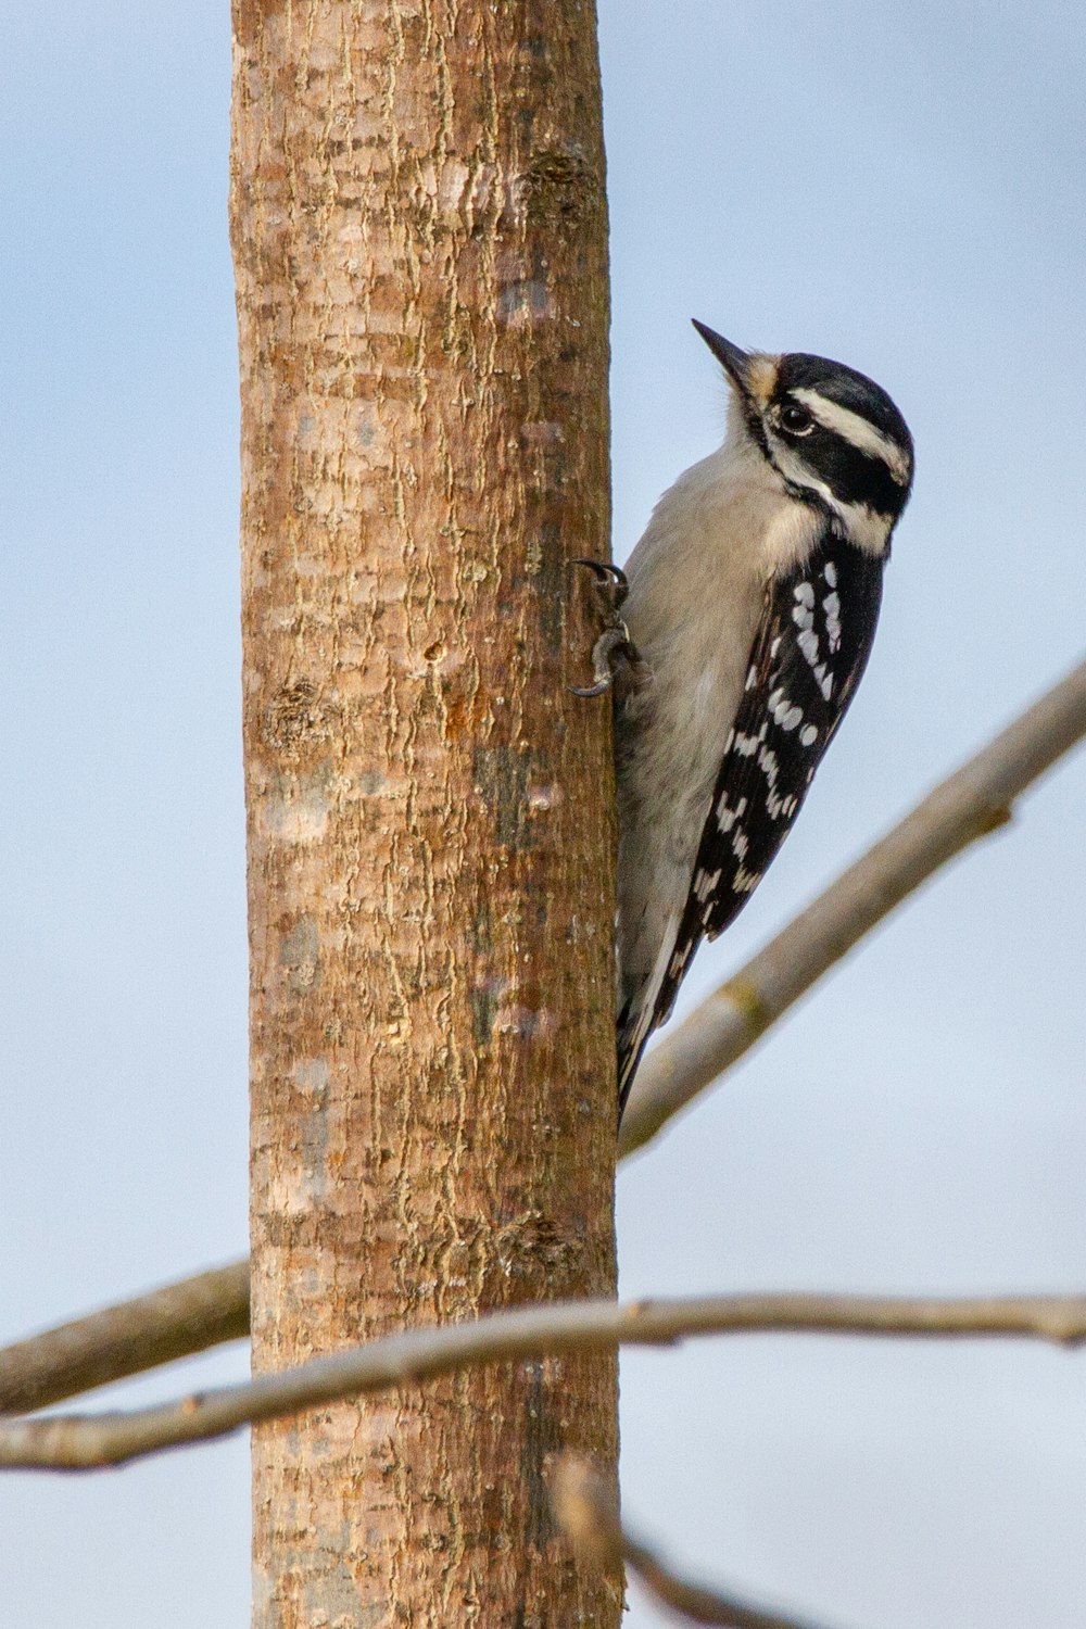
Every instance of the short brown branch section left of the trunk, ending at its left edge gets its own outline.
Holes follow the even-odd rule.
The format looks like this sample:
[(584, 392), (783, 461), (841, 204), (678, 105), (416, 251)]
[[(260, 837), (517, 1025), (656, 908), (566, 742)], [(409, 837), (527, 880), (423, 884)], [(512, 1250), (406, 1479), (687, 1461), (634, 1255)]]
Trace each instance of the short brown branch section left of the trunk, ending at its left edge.
[(166, 1284), (0, 1349), (0, 1414), (44, 1409), (249, 1333), (249, 1262)]

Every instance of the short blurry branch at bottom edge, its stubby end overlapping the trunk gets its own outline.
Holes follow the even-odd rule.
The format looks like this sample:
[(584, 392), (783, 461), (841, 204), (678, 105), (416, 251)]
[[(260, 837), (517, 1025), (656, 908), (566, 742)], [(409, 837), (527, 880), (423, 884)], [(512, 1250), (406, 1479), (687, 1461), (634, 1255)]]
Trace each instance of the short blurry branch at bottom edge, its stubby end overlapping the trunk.
[(646, 1544), (622, 1528), (617, 1505), (607, 1495), (606, 1486), (578, 1455), (567, 1453), (560, 1458), (552, 1478), (550, 1500), (558, 1525), (583, 1562), (604, 1570), (615, 1570), (625, 1562), (661, 1606), (687, 1622), (720, 1624), (723, 1629), (814, 1629), (806, 1619), (782, 1618), (780, 1613), (765, 1611), (734, 1595), (721, 1595), (718, 1590), (679, 1577)]

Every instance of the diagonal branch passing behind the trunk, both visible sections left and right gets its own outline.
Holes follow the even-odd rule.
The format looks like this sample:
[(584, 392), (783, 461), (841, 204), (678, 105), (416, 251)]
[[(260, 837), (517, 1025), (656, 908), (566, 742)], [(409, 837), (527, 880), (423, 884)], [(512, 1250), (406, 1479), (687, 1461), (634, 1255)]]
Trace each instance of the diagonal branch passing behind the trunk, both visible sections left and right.
[[(620, 1155), (643, 1147), (672, 1114), (742, 1057), (913, 888), (977, 837), (1003, 824), (1014, 798), (1083, 733), (1086, 663), (928, 793), (912, 814), (648, 1054), (622, 1122)], [(42, 1407), (200, 1352), (217, 1341), (231, 1341), (247, 1331), (246, 1290), (247, 1262), (236, 1261), (218, 1272), (168, 1285), (2, 1349), (0, 1411)], [(221, 1306), (217, 1293), (223, 1297)], [(101, 1352), (94, 1350), (98, 1341)], [(63, 1357), (68, 1347), (80, 1347), (85, 1357), (70, 1362)], [(54, 1363), (59, 1363), (55, 1378)]]

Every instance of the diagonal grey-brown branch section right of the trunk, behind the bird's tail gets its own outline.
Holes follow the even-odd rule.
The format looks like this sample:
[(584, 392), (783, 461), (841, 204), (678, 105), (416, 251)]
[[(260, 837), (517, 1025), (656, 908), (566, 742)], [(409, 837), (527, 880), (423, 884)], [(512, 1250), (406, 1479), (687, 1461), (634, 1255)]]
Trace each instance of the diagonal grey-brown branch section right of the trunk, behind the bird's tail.
[(948, 860), (1005, 826), (1014, 800), (1086, 735), (1086, 661), (843, 872), (642, 1062), (620, 1155), (642, 1148)]

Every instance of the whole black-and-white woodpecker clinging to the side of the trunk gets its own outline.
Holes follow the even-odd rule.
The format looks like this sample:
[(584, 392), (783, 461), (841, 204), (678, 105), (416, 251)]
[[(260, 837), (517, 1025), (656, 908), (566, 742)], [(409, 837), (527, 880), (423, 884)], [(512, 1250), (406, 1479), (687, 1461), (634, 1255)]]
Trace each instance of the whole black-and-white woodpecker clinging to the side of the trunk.
[(913, 474), (909, 427), (863, 373), (694, 326), (731, 386), (728, 433), (656, 505), (620, 611), (620, 1104), (694, 951), (751, 898), (837, 733)]

